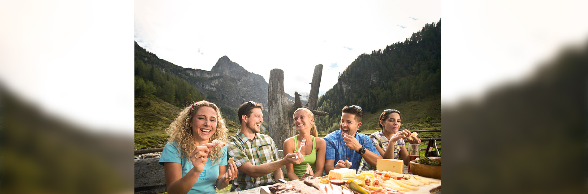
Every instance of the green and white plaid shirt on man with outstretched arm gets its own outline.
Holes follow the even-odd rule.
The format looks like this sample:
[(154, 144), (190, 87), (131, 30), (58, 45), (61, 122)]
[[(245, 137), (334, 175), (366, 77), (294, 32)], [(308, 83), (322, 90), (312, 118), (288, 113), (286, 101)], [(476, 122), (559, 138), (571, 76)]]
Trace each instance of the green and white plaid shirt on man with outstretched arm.
[[(235, 157), (237, 167), (247, 162), (251, 162), (252, 165), (260, 165), (278, 161), (278, 147), (268, 135), (257, 133), (255, 138), (249, 139), (239, 130), (235, 135), (229, 137), (229, 142), (226, 145), (227, 157)], [(273, 172), (259, 178), (253, 178), (239, 171), (230, 186), (230, 191), (273, 185), (276, 182), (273, 181), (272, 177)]]

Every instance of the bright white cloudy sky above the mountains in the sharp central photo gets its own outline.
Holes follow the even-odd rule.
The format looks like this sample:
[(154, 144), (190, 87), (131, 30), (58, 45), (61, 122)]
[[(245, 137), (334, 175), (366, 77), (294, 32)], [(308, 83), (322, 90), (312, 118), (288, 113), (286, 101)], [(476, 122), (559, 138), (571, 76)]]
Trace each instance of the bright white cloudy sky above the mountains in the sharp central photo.
[(173, 64), (211, 70), (222, 56), (263, 76), (284, 70), (286, 93), (320, 94), (362, 53), (441, 18), (441, 1), (135, 1), (135, 41)]

